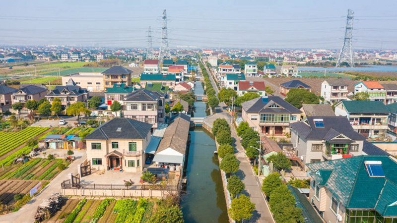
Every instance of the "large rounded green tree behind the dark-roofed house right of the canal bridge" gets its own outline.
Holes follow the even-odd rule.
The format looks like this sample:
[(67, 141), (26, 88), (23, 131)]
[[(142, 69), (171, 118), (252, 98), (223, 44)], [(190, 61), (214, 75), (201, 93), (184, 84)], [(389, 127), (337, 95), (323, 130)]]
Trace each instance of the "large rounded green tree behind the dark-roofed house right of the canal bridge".
[(285, 101), (300, 109), (302, 104), (319, 104), (319, 96), (303, 88), (291, 89), (287, 93)]

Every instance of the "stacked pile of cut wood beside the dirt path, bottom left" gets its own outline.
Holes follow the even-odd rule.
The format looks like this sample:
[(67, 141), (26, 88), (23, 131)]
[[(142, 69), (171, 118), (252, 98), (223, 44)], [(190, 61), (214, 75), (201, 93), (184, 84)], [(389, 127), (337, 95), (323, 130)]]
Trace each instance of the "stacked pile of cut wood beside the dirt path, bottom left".
[(35, 216), (36, 222), (49, 219), (54, 213), (61, 209), (64, 201), (65, 198), (59, 193), (53, 193), (49, 199), (43, 200), (37, 208)]

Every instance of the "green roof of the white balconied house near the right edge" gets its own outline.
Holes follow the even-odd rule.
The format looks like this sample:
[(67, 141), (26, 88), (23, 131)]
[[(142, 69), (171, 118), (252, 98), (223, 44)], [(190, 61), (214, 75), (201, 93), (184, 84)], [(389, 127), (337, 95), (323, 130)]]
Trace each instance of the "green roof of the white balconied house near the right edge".
[(349, 113), (389, 113), (389, 110), (381, 101), (342, 101), (342, 103)]

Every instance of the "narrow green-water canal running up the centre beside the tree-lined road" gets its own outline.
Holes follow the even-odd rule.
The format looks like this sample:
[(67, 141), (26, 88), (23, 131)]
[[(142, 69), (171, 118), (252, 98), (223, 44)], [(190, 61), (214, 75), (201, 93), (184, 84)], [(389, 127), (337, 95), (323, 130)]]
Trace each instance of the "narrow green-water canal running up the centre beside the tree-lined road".
[[(201, 95), (203, 89), (201, 82), (198, 82), (195, 93)], [(204, 107), (196, 107), (195, 114), (202, 115), (196, 117), (205, 116), (205, 103)], [(227, 223), (219, 161), (217, 155), (213, 153), (216, 150), (215, 141), (200, 127), (196, 127), (190, 134), (191, 143), (186, 169), (187, 191), (181, 199), (185, 223)]]

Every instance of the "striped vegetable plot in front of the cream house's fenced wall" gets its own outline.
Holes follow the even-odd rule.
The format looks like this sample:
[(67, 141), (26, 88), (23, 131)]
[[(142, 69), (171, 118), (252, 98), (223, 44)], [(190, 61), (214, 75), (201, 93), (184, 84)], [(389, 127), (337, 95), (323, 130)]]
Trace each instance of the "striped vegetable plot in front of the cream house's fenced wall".
[[(146, 223), (154, 210), (147, 199), (68, 199), (51, 219), (52, 223)], [(66, 213), (66, 214), (63, 214)]]

